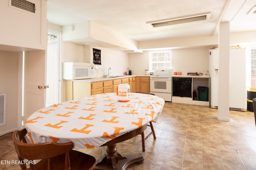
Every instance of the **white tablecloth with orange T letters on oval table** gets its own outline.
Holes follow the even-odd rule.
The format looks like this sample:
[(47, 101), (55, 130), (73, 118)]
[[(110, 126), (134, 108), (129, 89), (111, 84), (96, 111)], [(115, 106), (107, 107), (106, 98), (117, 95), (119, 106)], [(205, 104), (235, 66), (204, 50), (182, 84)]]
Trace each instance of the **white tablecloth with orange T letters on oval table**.
[(129, 102), (118, 102), (115, 93), (97, 94), (55, 104), (30, 115), (26, 129), (32, 143), (74, 143), (74, 148), (100, 147), (138, 129), (161, 113), (158, 96), (131, 93)]

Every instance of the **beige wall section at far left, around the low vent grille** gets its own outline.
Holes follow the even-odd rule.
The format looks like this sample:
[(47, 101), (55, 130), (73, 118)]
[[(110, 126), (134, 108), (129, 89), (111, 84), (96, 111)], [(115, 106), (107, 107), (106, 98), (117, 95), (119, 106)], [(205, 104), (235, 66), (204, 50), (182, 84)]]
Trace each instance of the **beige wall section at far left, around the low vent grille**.
[(0, 136), (17, 129), (18, 123), (18, 53), (0, 51), (0, 93), (6, 95), (6, 125)]

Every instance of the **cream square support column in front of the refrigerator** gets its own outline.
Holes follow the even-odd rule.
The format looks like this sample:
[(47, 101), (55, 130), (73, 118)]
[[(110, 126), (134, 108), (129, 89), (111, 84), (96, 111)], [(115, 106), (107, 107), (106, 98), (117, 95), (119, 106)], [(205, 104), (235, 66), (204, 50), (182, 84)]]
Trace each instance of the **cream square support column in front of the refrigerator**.
[(221, 22), (219, 28), (219, 92), (218, 116), (221, 121), (229, 118), (229, 53), (230, 53), (230, 22)]

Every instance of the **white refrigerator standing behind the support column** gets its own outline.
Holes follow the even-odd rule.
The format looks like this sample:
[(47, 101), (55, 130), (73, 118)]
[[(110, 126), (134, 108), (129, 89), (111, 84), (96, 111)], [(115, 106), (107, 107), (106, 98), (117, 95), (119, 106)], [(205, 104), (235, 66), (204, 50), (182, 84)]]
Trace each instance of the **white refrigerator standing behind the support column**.
[[(219, 50), (209, 50), (210, 106), (218, 108)], [(246, 49), (230, 49), (229, 107), (246, 111)]]

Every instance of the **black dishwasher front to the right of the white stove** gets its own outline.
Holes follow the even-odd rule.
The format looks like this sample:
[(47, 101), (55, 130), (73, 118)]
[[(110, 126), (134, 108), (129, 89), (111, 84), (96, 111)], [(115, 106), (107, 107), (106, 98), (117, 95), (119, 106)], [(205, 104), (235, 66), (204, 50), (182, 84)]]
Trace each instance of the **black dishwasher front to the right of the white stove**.
[(172, 77), (172, 96), (192, 98), (192, 78)]

